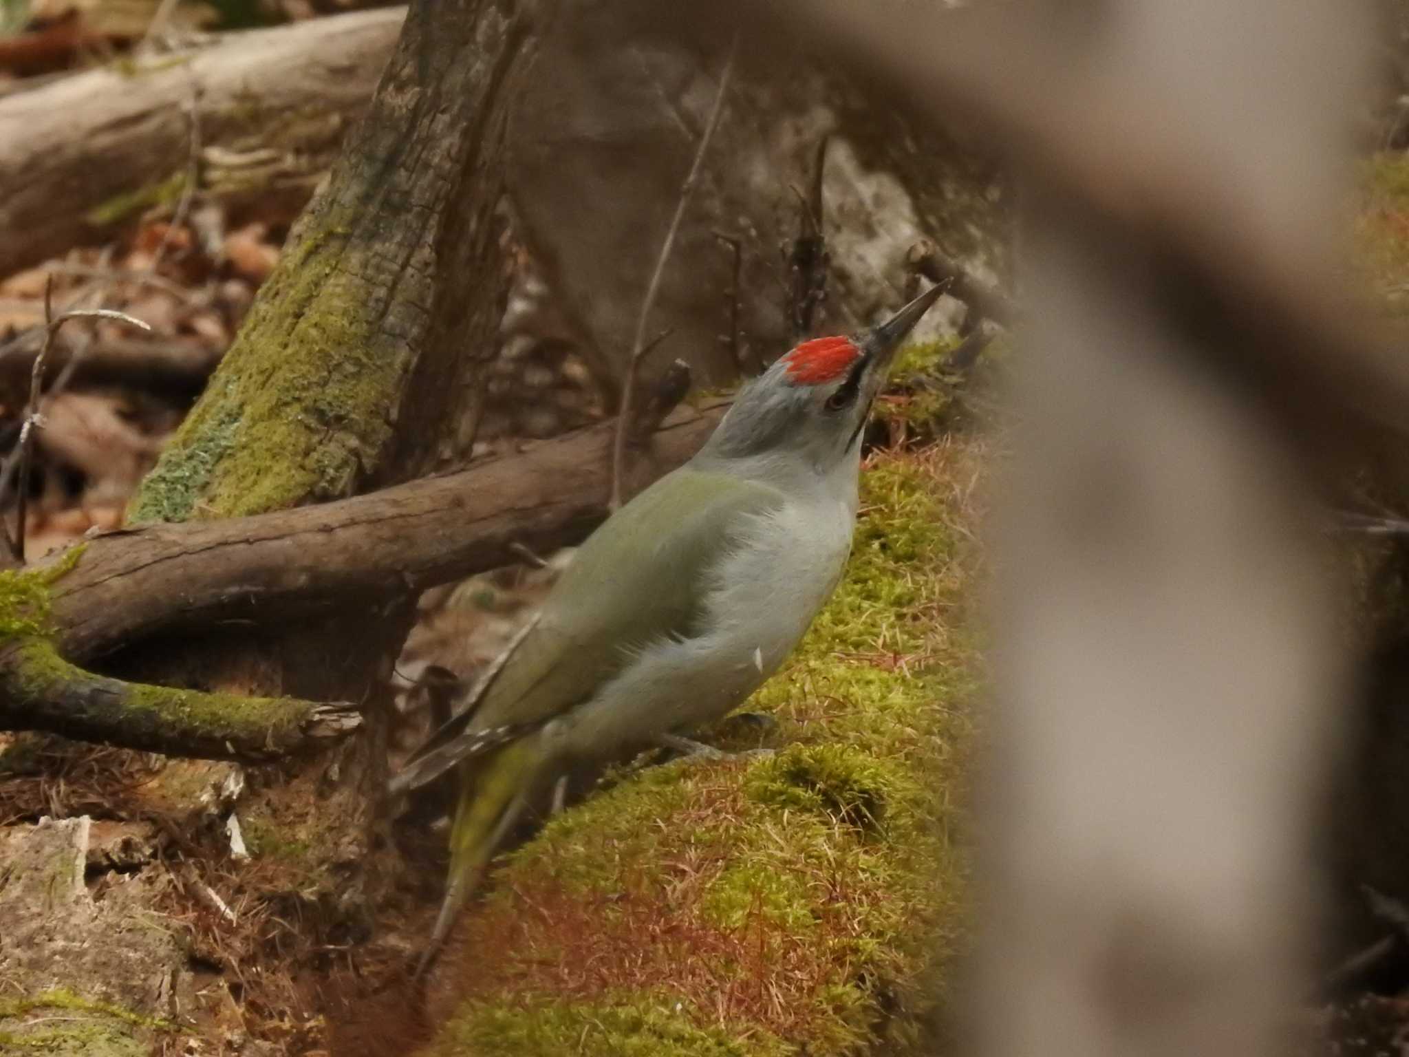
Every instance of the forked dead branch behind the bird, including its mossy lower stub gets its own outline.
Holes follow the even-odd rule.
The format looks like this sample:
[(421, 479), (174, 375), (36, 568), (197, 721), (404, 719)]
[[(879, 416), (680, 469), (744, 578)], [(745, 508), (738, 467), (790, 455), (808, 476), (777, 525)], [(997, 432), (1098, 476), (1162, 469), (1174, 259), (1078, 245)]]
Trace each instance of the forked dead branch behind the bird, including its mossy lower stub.
[[(668, 375), (676, 393), (679, 376)], [(655, 476), (695, 454), (723, 410), (681, 412), (655, 434), (644, 472)], [(371, 605), (516, 561), (523, 547), (578, 543), (607, 514), (613, 430), (604, 423), (459, 474), (323, 506), (96, 536), (73, 568), (59, 572), (62, 557), (48, 565), (54, 636), (0, 643), (0, 729), (234, 760), (345, 737), (361, 724), (352, 705), (138, 686), (73, 661), (176, 626)]]

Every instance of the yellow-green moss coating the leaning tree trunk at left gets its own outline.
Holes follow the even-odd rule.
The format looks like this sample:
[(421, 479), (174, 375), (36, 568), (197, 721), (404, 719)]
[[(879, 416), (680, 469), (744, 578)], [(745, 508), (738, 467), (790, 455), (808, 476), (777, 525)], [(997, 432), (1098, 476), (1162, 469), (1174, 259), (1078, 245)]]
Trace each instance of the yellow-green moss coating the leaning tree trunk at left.
[(238, 517), (347, 495), (379, 461), (410, 351), (344, 261), (328, 217), (261, 288), (230, 352), (156, 468), (134, 521)]

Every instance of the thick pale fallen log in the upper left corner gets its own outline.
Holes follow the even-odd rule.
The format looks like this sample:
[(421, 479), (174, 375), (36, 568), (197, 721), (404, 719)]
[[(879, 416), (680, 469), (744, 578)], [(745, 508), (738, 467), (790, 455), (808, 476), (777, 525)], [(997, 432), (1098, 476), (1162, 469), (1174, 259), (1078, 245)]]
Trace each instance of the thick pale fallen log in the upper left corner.
[(296, 211), (366, 106), (402, 18), (358, 11), (231, 34), (0, 100), (0, 275), (175, 203), (193, 99), (201, 193), (265, 207), (278, 196)]

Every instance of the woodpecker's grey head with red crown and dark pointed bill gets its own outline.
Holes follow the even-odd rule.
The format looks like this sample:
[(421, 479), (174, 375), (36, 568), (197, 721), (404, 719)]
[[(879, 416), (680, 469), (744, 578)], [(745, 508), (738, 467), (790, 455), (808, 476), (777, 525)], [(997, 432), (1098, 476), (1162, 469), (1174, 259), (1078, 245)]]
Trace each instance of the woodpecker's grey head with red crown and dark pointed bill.
[(896, 350), (940, 293), (931, 286), (857, 337), (805, 341), (781, 357), (740, 390), (700, 457), (802, 458), (823, 474), (854, 458)]

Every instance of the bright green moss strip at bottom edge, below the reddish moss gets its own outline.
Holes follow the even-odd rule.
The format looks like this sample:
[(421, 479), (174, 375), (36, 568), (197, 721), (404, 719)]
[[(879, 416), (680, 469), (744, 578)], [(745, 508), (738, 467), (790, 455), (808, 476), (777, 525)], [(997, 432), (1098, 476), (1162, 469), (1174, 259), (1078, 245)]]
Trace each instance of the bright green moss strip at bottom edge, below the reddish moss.
[(495, 1057), (785, 1057), (796, 1050), (754, 1033), (702, 1029), (682, 1006), (652, 996), (610, 1003), (482, 1006), (452, 1020), (431, 1054)]

